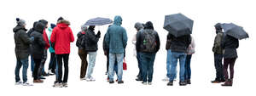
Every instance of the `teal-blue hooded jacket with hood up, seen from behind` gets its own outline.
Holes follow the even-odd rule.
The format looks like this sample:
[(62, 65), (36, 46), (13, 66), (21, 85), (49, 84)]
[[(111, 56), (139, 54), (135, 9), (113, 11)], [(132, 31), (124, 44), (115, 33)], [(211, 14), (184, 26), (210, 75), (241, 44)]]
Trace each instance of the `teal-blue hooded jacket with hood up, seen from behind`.
[(122, 18), (115, 16), (113, 25), (108, 27), (104, 42), (109, 47), (110, 54), (124, 54), (127, 45), (127, 34), (125, 28), (120, 26)]

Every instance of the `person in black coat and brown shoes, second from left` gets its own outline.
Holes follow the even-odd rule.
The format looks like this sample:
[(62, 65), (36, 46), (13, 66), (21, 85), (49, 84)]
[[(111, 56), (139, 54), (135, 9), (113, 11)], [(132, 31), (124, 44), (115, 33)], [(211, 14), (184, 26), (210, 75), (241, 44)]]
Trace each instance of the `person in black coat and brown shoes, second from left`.
[(32, 58), (35, 62), (35, 67), (33, 71), (33, 82), (43, 82), (39, 79), (39, 66), (41, 64), (42, 59), (44, 58), (44, 47), (45, 42), (43, 38), (44, 34), (44, 24), (41, 22), (38, 22), (34, 28), (34, 31), (31, 34), (31, 37), (34, 37), (34, 42), (32, 42)]

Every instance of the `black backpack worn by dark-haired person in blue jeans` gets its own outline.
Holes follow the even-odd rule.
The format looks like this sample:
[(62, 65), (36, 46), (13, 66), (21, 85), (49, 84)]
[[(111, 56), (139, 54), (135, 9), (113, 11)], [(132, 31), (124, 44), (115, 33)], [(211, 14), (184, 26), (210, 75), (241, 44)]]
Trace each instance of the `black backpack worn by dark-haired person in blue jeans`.
[(156, 37), (154, 31), (143, 31), (143, 52), (154, 53), (156, 51)]

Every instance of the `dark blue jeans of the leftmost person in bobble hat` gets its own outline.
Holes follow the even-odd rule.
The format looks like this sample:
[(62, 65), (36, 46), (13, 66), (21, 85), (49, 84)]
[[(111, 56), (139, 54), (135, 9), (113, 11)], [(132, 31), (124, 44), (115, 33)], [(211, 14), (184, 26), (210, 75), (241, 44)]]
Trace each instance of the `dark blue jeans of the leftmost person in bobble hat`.
[(20, 81), (20, 68), (23, 65), (22, 69), (22, 79), (23, 82), (27, 81), (26, 71), (28, 68), (28, 58), (26, 59), (17, 59), (16, 68), (15, 68), (15, 82)]

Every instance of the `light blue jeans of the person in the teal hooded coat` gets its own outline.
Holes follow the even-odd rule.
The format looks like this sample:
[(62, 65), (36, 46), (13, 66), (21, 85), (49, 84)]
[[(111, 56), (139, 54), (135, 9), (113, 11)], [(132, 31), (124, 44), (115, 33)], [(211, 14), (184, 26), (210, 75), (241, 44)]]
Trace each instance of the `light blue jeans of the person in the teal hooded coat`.
[(118, 67), (118, 75), (117, 75), (118, 81), (122, 81), (123, 59), (124, 59), (124, 54), (109, 54), (109, 68), (108, 68), (109, 81), (113, 81), (113, 70), (114, 70), (115, 61), (117, 61), (117, 67)]

